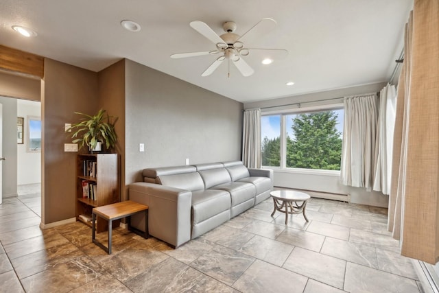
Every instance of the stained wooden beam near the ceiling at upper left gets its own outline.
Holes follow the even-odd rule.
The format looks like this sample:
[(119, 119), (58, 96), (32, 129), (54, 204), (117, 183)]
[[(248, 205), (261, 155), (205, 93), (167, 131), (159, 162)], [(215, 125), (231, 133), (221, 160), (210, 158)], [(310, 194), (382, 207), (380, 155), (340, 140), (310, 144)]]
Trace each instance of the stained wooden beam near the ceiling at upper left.
[(0, 45), (0, 69), (44, 77), (44, 57)]

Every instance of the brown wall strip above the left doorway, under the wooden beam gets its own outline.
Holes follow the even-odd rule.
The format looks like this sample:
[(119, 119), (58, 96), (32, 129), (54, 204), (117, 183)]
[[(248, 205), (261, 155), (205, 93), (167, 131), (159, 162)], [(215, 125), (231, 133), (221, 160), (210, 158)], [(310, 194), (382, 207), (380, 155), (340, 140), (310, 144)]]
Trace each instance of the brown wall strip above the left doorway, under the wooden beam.
[(40, 101), (41, 81), (23, 74), (0, 71), (0, 95)]

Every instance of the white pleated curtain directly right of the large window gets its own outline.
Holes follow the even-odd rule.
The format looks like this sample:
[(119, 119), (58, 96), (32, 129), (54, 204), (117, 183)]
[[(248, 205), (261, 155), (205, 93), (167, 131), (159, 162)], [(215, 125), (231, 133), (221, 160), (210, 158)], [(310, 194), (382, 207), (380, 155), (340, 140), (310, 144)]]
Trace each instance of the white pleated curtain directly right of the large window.
[(378, 120), (377, 95), (344, 98), (344, 130), (340, 176), (344, 185), (372, 187)]

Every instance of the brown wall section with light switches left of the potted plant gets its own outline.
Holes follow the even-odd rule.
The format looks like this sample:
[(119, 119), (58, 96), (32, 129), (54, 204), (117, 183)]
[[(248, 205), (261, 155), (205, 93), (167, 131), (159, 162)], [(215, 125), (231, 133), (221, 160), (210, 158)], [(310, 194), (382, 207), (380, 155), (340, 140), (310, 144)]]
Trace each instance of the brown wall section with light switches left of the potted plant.
[(98, 107), (97, 73), (45, 59), (43, 82), (43, 224), (75, 217), (76, 153), (65, 123), (78, 122), (73, 112), (93, 114)]

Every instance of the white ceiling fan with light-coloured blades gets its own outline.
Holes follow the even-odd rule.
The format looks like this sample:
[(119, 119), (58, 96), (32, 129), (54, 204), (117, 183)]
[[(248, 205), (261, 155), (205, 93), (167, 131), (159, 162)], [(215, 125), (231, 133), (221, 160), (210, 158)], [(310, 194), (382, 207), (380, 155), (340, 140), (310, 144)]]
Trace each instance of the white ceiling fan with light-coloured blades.
[(288, 55), (288, 51), (285, 49), (249, 48), (244, 45), (247, 41), (251, 42), (252, 38), (259, 38), (276, 27), (276, 21), (274, 21), (274, 19), (261, 19), (261, 21), (251, 27), (250, 30), (242, 36), (234, 33), (236, 30), (236, 23), (233, 21), (226, 21), (223, 23), (223, 29), (226, 33), (221, 36), (218, 36), (209, 25), (206, 25), (206, 23), (203, 23), (202, 21), (192, 21), (189, 25), (204, 37), (211, 40), (211, 42), (216, 45), (216, 49), (212, 51), (172, 54), (171, 58), (187, 58), (203, 55), (218, 56), (201, 76), (211, 75), (211, 73), (213, 73), (213, 71), (215, 71), (224, 60), (228, 60), (228, 76), (230, 76), (230, 62), (237, 67), (242, 75), (250, 76), (254, 73), (254, 70), (248, 65), (243, 57), (255, 52), (263, 53), (264, 58), (270, 60), (285, 58)]

